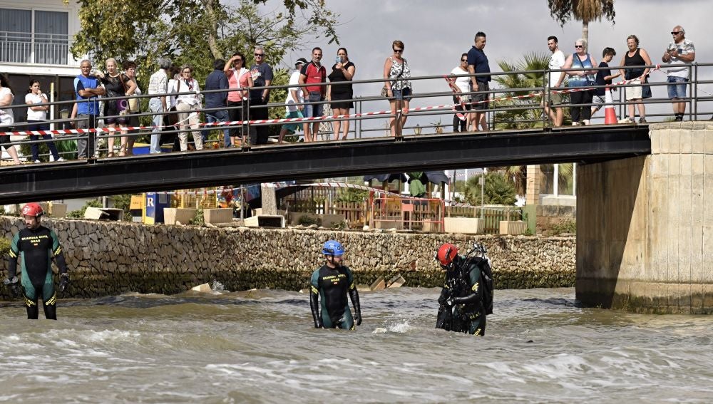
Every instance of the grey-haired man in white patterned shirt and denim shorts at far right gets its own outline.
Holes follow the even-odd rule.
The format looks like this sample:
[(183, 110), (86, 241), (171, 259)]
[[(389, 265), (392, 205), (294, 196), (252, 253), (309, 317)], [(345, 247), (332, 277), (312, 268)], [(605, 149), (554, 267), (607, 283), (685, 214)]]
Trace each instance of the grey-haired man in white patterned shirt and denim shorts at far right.
[(672, 100), (675, 120), (683, 120), (686, 113), (686, 86), (688, 86), (689, 67), (684, 66), (696, 60), (696, 48), (693, 42), (686, 39), (686, 30), (682, 26), (675, 26), (671, 31), (673, 41), (669, 43), (661, 60), (668, 63), (668, 95)]

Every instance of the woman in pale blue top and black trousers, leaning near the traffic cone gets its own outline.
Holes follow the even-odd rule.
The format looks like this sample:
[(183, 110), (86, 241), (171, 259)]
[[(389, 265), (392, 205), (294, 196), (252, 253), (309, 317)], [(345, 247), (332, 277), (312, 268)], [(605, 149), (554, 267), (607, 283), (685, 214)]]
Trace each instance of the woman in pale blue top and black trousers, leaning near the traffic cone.
[[(568, 87), (582, 88), (587, 86), (596, 86), (595, 74), (597, 71), (589, 70), (597, 66), (597, 61), (594, 57), (587, 53), (587, 40), (579, 38), (575, 41), (575, 53), (568, 56), (565, 61), (565, 68), (579, 68), (579, 71), (568, 71), (570, 76)], [(560, 81), (563, 76), (560, 76)], [(561, 84), (558, 83), (559, 87)], [(573, 104), (591, 104), (594, 94), (592, 90), (575, 91), (570, 93), (570, 101)], [(570, 107), (570, 115), (572, 115), (572, 125), (589, 125), (589, 120), (592, 118), (592, 105), (573, 106)]]

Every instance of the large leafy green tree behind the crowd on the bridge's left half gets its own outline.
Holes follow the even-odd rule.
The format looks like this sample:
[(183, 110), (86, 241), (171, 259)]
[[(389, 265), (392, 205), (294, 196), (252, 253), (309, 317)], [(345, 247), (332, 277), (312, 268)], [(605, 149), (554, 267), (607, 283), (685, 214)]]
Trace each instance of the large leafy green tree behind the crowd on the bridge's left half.
[[(202, 81), (214, 58), (235, 51), (252, 56), (261, 45), (267, 61), (279, 64), (288, 51), (305, 46), (305, 38), (324, 36), (339, 43), (338, 15), (325, 0), (284, 0), (283, 11), (260, 11), (266, 0), (240, 0), (237, 6), (220, 0), (78, 0), (81, 30), (72, 45), (75, 57), (85, 53), (95, 64), (106, 58), (134, 59), (139, 77), (147, 80), (160, 56), (191, 64)], [(250, 51), (250, 52), (248, 52)], [(144, 86), (146, 83), (143, 83)]]

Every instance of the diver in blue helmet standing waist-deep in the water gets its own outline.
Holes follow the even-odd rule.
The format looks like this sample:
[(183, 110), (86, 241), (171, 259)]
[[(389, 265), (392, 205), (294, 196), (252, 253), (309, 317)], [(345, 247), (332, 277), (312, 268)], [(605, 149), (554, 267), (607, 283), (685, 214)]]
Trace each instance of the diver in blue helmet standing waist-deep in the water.
[[(312, 273), (312, 285), (309, 288), (309, 307), (312, 309), (314, 328), (354, 330), (354, 323), (356, 326), (361, 325), (361, 306), (352, 271), (342, 265), (344, 247), (336, 240), (329, 240), (324, 243), (322, 254), (327, 261)], [(354, 306), (353, 318), (347, 294)]]

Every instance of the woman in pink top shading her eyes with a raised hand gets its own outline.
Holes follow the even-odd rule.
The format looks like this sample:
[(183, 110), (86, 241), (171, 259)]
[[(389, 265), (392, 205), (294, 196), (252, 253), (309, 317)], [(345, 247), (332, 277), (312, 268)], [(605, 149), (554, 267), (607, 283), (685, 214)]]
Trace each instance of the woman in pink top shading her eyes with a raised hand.
[[(225, 63), (225, 68), (223, 68), (225, 76), (227, 76), (228, 88), (230, 92), (227, 93), (227, 113), (228, 119), (231, 122), (236, 120), (248, 120), (247, 118), (247, 98), (249, 98), (248, 89), (252, 87), (252, 75), (250, 70), (245, 68), (245, 56), (242, 53), (235, 52), (227, 63)], [(238, 135), (239, 128), (230, 128), (230, 143), (235, 146), (235, 138)], [(250, 130), (255, 130), (255, 128), (250, 128)], [(245, 144), (245, 135), (247, 135), (242, 128), (240, 128), (240, 133), (242, 134), (241, 145)]]

